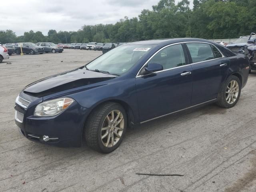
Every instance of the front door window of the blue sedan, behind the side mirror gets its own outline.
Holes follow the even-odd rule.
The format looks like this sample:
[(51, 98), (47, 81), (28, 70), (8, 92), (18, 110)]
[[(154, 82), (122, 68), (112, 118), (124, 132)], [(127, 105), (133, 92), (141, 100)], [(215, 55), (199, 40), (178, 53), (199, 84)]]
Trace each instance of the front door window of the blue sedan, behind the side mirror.
[(148, 63), (160, 63), (164, 70), (186, 64), (181, 44), (172, 45), (158, 52)]

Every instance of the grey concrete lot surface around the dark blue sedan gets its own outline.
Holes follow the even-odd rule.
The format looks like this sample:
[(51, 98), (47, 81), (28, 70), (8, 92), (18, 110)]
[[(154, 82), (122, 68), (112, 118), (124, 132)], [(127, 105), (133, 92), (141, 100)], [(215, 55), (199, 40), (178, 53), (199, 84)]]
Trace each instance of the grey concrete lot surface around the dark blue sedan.
[(135, 126), (110, 154), (87, 146), (46, 146), (21, 136), (14, 122), (20, 90), (100, 54), (14, 54), (0, 64), (1, 192), (256, 191), (256, 72), (250, 74), (234, 108), (212, 104)]

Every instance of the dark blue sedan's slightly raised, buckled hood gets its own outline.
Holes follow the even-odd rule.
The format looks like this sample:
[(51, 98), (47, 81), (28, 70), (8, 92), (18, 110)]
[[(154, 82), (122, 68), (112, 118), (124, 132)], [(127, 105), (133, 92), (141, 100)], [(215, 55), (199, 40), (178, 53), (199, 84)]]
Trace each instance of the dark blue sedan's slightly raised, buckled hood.
[(75, 70), (38, 80), (26, 86), (23, 89), (23, 92), (32, 96), (42, 97), (72, 88), (110, 80), (116, 77), (116, 75), (89, 71), (85, 68), (77, 68)]

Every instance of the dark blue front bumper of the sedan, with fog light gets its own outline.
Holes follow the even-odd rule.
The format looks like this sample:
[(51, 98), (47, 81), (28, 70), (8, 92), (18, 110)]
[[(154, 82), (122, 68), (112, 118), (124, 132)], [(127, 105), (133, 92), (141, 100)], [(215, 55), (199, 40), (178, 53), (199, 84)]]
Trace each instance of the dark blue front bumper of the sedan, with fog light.
[[(19, 132), (34, 142), (56, 146), (79, 147), (82, 145), (82, 129), (90, 109), (80, 106), (76, 101), (56, 116), (34, 116), (35, 106), (24, 108), (15, 104), (15, 123)], [(49, 137), (48, 141), (44, 140)]]

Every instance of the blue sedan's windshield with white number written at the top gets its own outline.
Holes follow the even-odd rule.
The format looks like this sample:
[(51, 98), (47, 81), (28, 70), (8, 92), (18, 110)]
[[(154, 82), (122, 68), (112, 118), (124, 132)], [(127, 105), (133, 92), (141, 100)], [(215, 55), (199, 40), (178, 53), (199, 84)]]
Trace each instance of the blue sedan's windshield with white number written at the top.
[(106, 52), (86, 65), (88, 70), (100, 70), (121, 75), (127, 72), (155, 45), (124, 45)]

